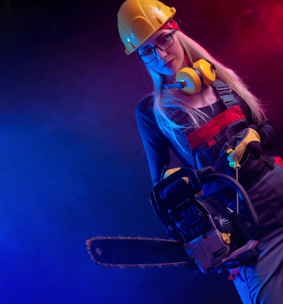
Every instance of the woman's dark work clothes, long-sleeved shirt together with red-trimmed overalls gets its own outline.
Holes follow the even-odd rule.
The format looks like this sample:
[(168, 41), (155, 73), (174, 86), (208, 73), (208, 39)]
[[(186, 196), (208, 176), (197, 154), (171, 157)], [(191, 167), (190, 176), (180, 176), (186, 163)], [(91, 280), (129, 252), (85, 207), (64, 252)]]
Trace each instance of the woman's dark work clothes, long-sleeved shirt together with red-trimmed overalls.
[[(202, 108), (211, 120), (200, 128), (180, 130), (180, 149), (162, 133), (152, 112), (152, 97), (145, 98), (136, 108), (136, 120), (147, 154), (152, 185), (161, 178), (164, 166), (170, 164), (172, 150), (184, 167), (201, 169), (213, 166), (216, 172), (235, 177), (235, 170), (229, 167), (227, 156), (220, 156), (222, 146), (231, 136), (245, 128), (253, 127), (251, 115), (245, 102), (230, 92), (230, 87), (220, 81), (212, 84), (219, 101)], [(184, 125), (187, 117), (180, 108), (169, 113), (172, 120)], [(259, 127), (259, 126), (256, 126)], [(264, 132), (264, 128), (268, 132)], [(263, 149), (274, 148), (279, 135), (269, 121), (260, 127)], [(273, 131), (274, 130), (274, 131)], [(258, 131), (258, 130), (256, 130)], [(249, 267), (240, 267), (234, 280), (244, 304), (283, 304), (274, 299), (274, 294), (283, 287), (283, 167), (282, 159), (263, 152), (258, 160), (246, 162), (238, 171), (238, 180), (245, 187), (260, 221), (260, 257)], [(204, 187), (204, 195), (221, 192), (215, 185)], [(276, 298), (276, 297), (275, 297)], [(262, 300), (264, 299), (264, 300)]]

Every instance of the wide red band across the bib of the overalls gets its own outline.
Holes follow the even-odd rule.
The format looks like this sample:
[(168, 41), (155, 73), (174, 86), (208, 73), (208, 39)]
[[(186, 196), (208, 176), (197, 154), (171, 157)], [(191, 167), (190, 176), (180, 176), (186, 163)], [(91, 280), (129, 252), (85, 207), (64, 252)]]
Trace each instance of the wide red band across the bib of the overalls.
[(204, 142), (210, 147), (215, 144), (214, 136), (216, 134), (231, 123), (243, 118), (245, 118), (245, 115), (238, 105), (231, 107), (189, 134), (187, 141), (192, 150)]

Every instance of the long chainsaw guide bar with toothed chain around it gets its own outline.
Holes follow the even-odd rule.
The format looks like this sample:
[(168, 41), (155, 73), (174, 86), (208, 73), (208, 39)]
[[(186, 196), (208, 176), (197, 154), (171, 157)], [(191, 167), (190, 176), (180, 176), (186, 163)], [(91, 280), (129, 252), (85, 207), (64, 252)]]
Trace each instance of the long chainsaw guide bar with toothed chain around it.
[(105, 267), (165, 267), (189, 263), (180, 241), (131, 236), (97, 236), (86, 240), (92, 260)]

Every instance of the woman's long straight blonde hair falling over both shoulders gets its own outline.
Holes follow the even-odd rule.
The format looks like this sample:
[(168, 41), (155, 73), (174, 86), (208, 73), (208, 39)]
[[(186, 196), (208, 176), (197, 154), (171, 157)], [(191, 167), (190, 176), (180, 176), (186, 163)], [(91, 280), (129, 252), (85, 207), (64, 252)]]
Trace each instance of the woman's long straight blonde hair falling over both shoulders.
[[(208, 51), (200, 46), (199, 43), (183, 34), (183, 32), (177, 31), (175, 34), (177, 35), (185, 54), (188, 56), (191, 63), (194, 63), (199, 59), (205, 59), (212, 62), (216, 67), (216, 78), (229, 84), (231, 89), (247, 103), (247, 106), (250, 108), (252, 118), (256, 122), (260, 123), (264, 121), (265, 111), (261, 102), (250, 92), (246, 84), (244, 84), (231, 69), (222, 65)], [(180, 129), (180, 125), (176, 124), (168, 117), (168, 107), (181, 108), (181, 110), (187, 114), (190, 123), (192, 123), (195, 128), (200, 126), (200, 119), (204, 119), (206, 121), (207, 117), (203, 112), (189, 103), (170, 95), (166, 90), (162, 91), (164, 76), (149, 66), (145, 66), (154, 85), (153, 112), (158, 126), (168, 137), (173, 139), (173, 142), (178, 145), (179, 143), (175, 131)]]

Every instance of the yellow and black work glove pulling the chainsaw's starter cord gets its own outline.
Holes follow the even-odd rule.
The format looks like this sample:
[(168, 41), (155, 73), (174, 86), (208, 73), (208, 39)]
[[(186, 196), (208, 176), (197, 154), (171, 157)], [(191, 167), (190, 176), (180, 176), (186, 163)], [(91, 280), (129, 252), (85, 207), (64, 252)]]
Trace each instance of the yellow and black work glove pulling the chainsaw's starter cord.
[(246, 128), (232, 136), (220, 151), (221, 156), (228, 153), (229, 166), (240, 168), (250, 159), (259, 159), (262, 148), (258, 133), (252, 128)]

